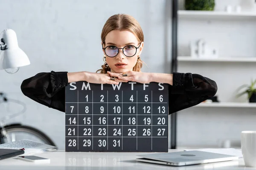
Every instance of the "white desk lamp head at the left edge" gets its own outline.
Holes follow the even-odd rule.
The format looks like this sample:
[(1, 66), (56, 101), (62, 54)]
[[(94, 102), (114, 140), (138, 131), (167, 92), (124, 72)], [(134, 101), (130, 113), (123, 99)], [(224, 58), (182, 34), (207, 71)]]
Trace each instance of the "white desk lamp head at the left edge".
[(0, 70), (14, 74), (20, 67), (29, 65), (28, 56), (18, 46), (17, 36), (12, 29), (5, 29), (0, 34)]

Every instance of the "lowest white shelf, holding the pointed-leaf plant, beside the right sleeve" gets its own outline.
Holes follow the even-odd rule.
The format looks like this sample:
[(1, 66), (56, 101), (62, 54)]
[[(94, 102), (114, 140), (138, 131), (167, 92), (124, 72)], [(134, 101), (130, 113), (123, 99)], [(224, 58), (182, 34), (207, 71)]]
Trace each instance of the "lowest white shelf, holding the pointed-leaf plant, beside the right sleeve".
[(212, 103), (200, 103), (194, 107), (215, 107), (215, 108), (256, 108), (256, 103), (247, 102), (212, 102)]

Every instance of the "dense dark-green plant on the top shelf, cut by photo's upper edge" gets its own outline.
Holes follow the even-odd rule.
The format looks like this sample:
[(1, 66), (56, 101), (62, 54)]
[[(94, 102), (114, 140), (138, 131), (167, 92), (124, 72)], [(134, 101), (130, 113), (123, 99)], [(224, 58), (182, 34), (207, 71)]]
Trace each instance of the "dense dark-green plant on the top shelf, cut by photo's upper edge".
[(213, 11), (215, 0), (185, 0), (186, 10)]

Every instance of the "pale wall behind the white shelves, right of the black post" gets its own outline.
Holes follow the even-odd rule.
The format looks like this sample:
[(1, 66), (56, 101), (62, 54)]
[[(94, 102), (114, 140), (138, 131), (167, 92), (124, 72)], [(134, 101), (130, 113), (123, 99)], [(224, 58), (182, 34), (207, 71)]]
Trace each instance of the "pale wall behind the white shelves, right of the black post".
[[(252, 0), (251, 0), (252, 1)], [(249, 0), (215, 0), (216, 11)], [(183, 9), (180, 1), (180, 9)], [(256, 3), (252, 6), (255, 10)], [(242, 10), (244, 10), (242, 6)], [(248, 8), (247, 8), (248, 11)], [(219, 57), (256, 57), (255, 19), (186, 19), (178, 23), (178, 55), (190, 56), (189, 42), (203, 38), (219, 48)], [(214, 79), (221, 102), (247, 102), (236, 98), (236, 89), (256, 78), (255, 62), (178, 62), (178, 71)], [(242, 130), (255, 130), (256, 108), (189, 108), (177, 115), (177, 146), (218, 147), (224, 140), (239, 147)]]

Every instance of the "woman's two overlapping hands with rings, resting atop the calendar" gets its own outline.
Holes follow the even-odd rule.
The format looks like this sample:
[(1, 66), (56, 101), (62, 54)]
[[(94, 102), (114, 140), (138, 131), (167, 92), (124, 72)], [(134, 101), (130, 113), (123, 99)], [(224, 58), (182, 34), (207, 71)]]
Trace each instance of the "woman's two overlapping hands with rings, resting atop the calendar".
[(85, 81), (90, 83), (99, 84), (114, 84), (118, 85), (119, 82), (139, 82), (149, 83), (151, 82), (151, 74), (137, 71), (127, 71), (125, 73), (113, 73), (108, 71), (107, 74), (101, 73), (89, 73), (87, 74)]

